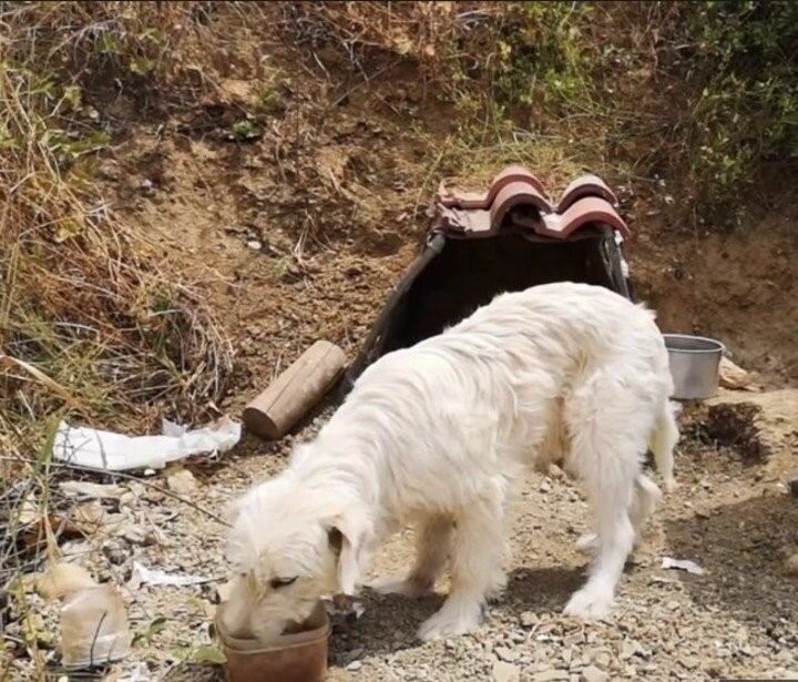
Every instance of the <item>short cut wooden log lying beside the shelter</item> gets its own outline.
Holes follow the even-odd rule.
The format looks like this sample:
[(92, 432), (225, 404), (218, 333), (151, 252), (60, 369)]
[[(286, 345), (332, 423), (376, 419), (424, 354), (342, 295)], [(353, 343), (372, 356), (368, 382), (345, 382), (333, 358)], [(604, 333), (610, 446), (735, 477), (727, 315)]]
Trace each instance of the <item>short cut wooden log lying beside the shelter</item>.
[(248, 431), (274, 440), (285, 436), (332, 387), (346, 367), (344, 352), (318, 340), (244, 408)]

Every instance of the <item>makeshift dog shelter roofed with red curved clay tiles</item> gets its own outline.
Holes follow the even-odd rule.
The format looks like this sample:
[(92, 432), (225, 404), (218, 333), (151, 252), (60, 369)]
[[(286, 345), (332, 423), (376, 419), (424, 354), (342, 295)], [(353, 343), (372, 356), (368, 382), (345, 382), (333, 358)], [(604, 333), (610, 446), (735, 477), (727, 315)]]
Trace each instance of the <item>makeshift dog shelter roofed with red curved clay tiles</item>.
[(518, 165), (483, 193), (441, 185), (426, 245), (391, 293), (342, 389), (381, 355), (439, 334), (503, 292), (583, 282), (631, 298), (621, 251), (628, 228), (616, 206), (615, 194), (595, 175), (577, 177), (553, 203), (541, 181)]

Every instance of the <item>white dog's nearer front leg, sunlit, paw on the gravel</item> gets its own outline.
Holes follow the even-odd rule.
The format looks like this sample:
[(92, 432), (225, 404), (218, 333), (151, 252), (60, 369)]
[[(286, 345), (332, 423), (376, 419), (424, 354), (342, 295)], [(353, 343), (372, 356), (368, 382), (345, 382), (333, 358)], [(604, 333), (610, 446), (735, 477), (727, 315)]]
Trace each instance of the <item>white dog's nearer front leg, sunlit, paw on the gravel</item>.
[(504, 559), (504, 502), (498, 490), (474, 501), (456, 517), (451, 590), (441, 609), (419, 628), (419, 638), (432, 640), (472, 630), (482, 621), (489, 597), (501, 590)]

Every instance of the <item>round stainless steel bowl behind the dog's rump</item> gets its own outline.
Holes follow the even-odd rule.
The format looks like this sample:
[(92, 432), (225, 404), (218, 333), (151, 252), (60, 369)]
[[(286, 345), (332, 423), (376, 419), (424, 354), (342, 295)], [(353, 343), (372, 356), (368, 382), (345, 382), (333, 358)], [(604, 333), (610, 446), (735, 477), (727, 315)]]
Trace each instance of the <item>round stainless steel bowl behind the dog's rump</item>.
[(717, 393), (725, 346), (714, 338), (663, 334), (674, 379), (674, 398), (702, 400)]

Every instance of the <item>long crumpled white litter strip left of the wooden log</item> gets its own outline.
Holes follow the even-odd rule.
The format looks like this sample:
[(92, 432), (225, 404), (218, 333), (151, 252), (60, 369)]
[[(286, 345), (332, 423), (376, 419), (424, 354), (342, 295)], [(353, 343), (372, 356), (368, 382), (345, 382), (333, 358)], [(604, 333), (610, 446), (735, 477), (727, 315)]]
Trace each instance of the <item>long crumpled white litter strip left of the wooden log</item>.
[(162, 469), (170, 461), (192, 455), (226, 452), (241, 439), (241, 424), (222, 417), (212, 426), (187, 430), (164, 421), (163, 436), (124, 436), (61, 423), (55, 432), (53, 456), (61, 461), (125, 471), (147, 467)]

